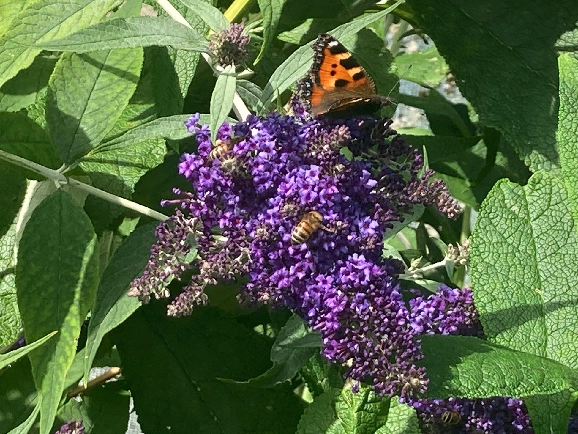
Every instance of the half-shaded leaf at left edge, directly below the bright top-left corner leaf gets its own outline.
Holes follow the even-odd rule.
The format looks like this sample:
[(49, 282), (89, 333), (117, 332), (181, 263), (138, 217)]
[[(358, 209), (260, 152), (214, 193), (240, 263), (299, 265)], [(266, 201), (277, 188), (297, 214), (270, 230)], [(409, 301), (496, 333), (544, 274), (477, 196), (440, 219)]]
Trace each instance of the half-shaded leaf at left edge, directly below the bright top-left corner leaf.
[(0, 89), (0, 111), (17, 112), (42, 100), (57, 57), (38, 56)]

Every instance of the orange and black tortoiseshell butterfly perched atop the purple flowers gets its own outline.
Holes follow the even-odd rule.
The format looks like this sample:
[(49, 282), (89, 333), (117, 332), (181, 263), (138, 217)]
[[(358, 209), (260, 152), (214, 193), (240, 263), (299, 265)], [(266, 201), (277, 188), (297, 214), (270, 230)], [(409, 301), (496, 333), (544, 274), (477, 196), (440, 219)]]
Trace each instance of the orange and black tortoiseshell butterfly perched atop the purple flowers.
[(391, 103), (391, 98), (377, 95), (368, 73), (333, 36), (320, 34), (312, 47), (313, 65), (295, 92), (307, 112), (347, 117)]

